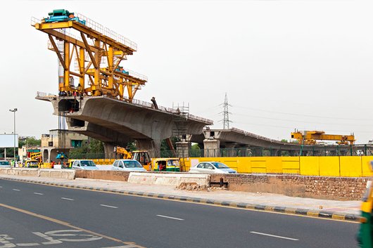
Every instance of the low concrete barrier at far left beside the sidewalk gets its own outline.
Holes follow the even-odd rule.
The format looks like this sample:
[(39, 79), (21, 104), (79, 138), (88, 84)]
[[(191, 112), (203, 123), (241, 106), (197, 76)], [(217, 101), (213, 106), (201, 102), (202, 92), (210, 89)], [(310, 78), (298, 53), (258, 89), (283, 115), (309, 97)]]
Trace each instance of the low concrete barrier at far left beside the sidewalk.
[(0, 174), (14, 176), (65, 178), (70, 180), (75, 178), (75, 170), (73, 169), (7, 168), (0, 169)]

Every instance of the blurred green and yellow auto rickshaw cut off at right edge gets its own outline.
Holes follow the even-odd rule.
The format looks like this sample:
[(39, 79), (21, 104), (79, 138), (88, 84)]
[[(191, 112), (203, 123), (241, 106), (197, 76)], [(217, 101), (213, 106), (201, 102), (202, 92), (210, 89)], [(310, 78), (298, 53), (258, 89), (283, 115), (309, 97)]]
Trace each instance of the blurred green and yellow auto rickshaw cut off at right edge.
[[(373, 161), (370, 162), (370, 169), (373, 171)], [(367, 190), (362, 197), (360, 216), (360, 228), (357, 240), (362, 248), (373, 247), (373, 184), (368, 181)]]

